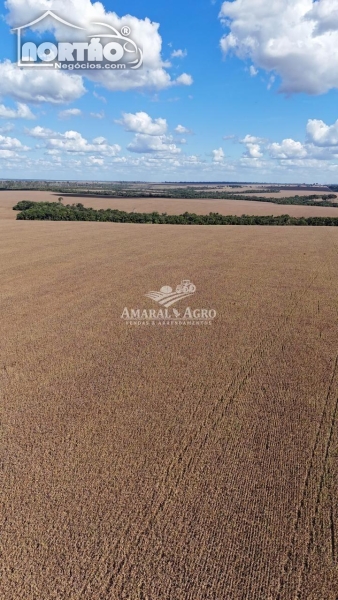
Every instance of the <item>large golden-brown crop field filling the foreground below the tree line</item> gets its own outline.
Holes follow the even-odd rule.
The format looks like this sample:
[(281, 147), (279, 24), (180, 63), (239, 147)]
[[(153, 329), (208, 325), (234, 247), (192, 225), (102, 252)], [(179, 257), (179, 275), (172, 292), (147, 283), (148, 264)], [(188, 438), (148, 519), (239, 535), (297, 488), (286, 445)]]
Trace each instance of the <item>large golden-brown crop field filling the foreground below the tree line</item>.
[[(0, 598), (336, 600), (338, 230), (2, 219), (0, 255)], [(183, 279), (211, 325), (121, 319)]]

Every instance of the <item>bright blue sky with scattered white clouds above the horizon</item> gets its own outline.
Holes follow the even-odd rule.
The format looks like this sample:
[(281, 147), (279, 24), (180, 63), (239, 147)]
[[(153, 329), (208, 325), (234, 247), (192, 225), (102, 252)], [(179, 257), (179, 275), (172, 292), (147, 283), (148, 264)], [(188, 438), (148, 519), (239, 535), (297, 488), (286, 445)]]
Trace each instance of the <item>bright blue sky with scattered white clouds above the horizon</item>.
[[(130, 27), (142, 67), (20, 68), (47, 10)], [(2, 1), (0, 178), (338, 183), (337, 88), (338, 0)]]

